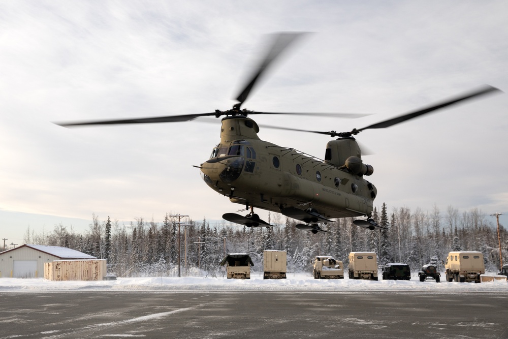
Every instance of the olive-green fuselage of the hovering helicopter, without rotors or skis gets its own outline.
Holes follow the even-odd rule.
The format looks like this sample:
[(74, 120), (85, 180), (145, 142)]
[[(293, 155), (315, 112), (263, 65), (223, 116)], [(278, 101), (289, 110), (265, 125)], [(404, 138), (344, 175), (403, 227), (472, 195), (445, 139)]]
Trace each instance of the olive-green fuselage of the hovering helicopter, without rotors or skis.
[[(201, 164), (203, 179), (210, 188), (246, 208), (274, 212), (288, 207), (312, 208), (328, 219), (371, 214), (377, 191), (363, 178), (363, 172), (355, 174), (332, 159), (320, 160), (262, 141), (258, 132), (256, 122), (245, 116), (223, 119), (220, 143)], [(359, 154), (342, 158), (350, 156), (361, 163), (356, 157)], [(372, 171), (368, 167), (366, 172)]]

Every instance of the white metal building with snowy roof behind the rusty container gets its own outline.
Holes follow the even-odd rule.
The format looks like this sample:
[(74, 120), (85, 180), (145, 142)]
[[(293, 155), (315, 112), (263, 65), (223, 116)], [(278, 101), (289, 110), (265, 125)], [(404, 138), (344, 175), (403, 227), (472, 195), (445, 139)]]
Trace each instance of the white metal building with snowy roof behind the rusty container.
[(96, 257), (66, 247), (24, 244), (0, 253), (0, 278), (44, 278), (44, 263)]

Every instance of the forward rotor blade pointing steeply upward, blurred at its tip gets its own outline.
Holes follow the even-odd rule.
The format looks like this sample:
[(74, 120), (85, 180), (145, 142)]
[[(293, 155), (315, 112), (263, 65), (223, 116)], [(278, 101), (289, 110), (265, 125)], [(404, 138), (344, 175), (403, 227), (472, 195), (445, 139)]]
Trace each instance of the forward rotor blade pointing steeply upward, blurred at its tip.
[(291, 45), (297, 38), (303, 36), (305, 33), (278, 33), (275, 34), (274, 42), (271, 48), (268, 50), (267, 55), (263, 59), (261, 65), (256, 72), (250, 78), (250, 81), (244, 86), (236, 100), (240, 102), (240, 106), (243, 104), (249, 96), (250, 90), (256, 84), (261, 75), (266, 71), (268, 66), (275, 60), (281, 52)]

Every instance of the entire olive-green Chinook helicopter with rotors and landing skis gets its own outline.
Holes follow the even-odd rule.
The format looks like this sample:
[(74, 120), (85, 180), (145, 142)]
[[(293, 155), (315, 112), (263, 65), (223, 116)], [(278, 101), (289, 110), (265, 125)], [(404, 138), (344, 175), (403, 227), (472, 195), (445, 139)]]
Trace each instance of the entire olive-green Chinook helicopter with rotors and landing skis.
[(374, 169), (371, 165), (363, 163), (361, 149), (354, 136), (364, 130), (387, 128), (499, 89), (484, 86), (470, 93), (350, 132), (320, 132), (264, 126), (338, 137), (326, 145), (325, 159), (318, 159), (293, 148), (261, 140), (258, 137), (260, 130), (258, 124), (248, 116), (296, 114), (351, 117), (351, 114), (275, 113), (241, 109), (251, 89), (272, 61), (301, 35), (301, 33), (275, 35), (268, 54), (236, 98), (238, 103), (230, 110), (121, 120), (65, 122), (58, 125), (71, 127), (145, 124), (189, 121), (203, 116), (217, 118), (225, 116), (222, 118), (219, 144), (213, 148), (208, 160), (196, 166), (200, 168), (204, 181), (212, 190), (228, 197), (231, 202), (242, 204), (245, 210), (249, 211), (245, 216), (226, 213), (223, 215), (225, 220), (247, 227), (273, 226), (254, 213), (254, 208), (261, 208), (302, 221), (305, 224), (296, 227), (312, 233), (326, 232), (319, 227), (320, 223), (326, 224), (331, 222), (331, 219), (345, 217), (365, 217), (365, 220), (355, 220), (354, 224), (370, 230), (382, 229), (371, 219), (377, 190), (365, 178), (371, 175)]

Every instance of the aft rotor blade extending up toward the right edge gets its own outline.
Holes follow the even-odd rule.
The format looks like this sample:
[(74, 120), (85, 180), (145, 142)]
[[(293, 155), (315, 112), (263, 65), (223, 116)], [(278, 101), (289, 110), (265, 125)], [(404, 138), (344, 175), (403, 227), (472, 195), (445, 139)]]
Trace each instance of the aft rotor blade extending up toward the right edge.
[[(480, 96), (483, 96), (483, 95), (486, 95), (486, 94), (489, 94), (489, 93), (492, 93), (492, 92), (496, 92), (496, 91), (501, 91), (501, 90), (496, 88), (496, 87), (492, 87), (492, 86), (486, 85), (486, 86), (484, 86), (484, 87), (482, 87), (480, 89), (473, 90), (470, 93), (467, 93), (467, 94), (462, 95), (460, 97), (455, 97), (453, 99), (437, 103), (435, 105), (432, 105), (432, 106), (427, 107), (427, 108), (420, 109), (420, 110), (415, 111), (415, 112), (410, 112), (410, 113), (407, 113), (407, 114), (404, 114), (404, 115), (400, 115), (400, 116), (392, 118), (392, 119), (388, 119), (388, 120), (385, 120), (385, 121), (377, 122), (377, 124), (373, 124), (373, 125), (364, 127), (362, 129), (355, 130), (355, 132), (358, 133), (358, 132), (361, 132), (361, 131), (367, 130), (367, 129), (390, 127), (390, 126), (393, 126), (393, 125), (396, 125), (396, 124), (400, 124), (400, 122), (404, 122), (406, 120), (409, 120), (409, 119), (412, 119), (412, 118), (416, 118), (417, 116), (420, 116), (420, 115), (423, 115), (423, 114), (427, 114), (427, 113), (431, 113), (431, 112), (433, 112), (435, 110), (438, 110), (438, 109), (441, 109), (441, 108), (444, 108), (444, 107), (447, 107), (447, 106), (451, 106), (451, 105), (457, 104), (457, 103), (459, 103), (461, 101), (472, 99), (472, 98), (475, 98), (475, 97), (480, 97)], [(356, 134), (356, 133), (354, 133), (354, 134)]]

